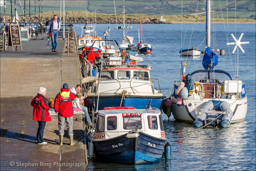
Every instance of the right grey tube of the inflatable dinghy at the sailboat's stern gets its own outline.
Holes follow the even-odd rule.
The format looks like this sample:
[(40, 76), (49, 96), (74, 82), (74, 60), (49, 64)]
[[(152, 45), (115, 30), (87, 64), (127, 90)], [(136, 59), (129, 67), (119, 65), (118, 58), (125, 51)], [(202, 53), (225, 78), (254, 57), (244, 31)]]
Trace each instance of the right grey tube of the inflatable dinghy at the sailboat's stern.
[(220, 110), (225, 112), (225, 114), (223, 114), (222, 120), (220, 122), (220, 127), (222, 128), (227, 128), (229, 126), (229, 123), (231, 121), (231, 118), (233, 116), (233, 112), (232, 110), (229, 108), (229, 105), (227, 103), (227, 101), (223, 101), (220, 104)]

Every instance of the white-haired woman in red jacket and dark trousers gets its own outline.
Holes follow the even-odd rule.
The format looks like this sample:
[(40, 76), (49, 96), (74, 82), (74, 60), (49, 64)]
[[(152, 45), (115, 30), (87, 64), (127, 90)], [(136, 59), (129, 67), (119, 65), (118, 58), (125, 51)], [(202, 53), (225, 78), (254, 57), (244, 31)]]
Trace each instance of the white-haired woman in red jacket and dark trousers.
[(33, 109), (33, 120), (38, 121), (38, 129), (36, 134), (36, 140), (38, 144), (47, 144), (43, 140), (44, 127), (47, 121), (52, 121), (48, 109), (50, 108), (47, 99), (45, 98), (46, 88), (40, 87), (38, 89), (37, 96), (31, 101)]

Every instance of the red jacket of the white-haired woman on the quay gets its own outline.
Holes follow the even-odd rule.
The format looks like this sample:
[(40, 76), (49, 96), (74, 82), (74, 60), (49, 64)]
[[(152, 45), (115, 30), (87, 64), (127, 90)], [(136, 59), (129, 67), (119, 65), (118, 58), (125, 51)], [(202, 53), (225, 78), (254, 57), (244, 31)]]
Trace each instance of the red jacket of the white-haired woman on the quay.
[(52, 121), (48, 109), (49, 103), (47, 99), (40, 94), (37, 94), (36, 97), (31, 101), (31, 106), (33, 109), (33, 120), (35, 121)]

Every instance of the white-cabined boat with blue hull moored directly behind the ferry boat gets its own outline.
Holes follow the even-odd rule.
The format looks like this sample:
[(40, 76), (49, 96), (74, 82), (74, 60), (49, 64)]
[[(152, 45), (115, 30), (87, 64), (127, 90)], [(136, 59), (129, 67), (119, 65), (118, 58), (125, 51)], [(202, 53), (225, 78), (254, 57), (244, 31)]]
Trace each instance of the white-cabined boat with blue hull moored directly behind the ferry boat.
[(151, 78), (151, 67), (137, 65), (125, 49), (120, 51), (121, 56), (108, 49), (94, 60), (94, 77), (83, 83), (84, 105), (91, 111), (97, 104), (100, 110), (106, 106), (145, 108), (149, 102), (151, 107), (161, 108), (165, 96), (158, 79)]

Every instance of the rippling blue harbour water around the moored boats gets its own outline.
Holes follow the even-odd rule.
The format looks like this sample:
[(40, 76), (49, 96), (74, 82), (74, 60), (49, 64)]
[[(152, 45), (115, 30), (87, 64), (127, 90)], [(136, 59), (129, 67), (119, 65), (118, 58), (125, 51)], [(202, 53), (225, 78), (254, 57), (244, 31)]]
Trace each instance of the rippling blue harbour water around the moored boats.
[[(139, 24), (132, 25), (132, 35), (134, 43), (138, 43)], [(74, 24), (77, 35), (81, 34), (81, 26), (84, 24)], [(108, 30), (109, 24), (97, 24), (98, 36), (103, 36), (103, 32)], [(181, 37), (182, 26), (182, 37)], [(110, 25), (110, 39), (117, 39), (121, 42), (122, 30), (115, 30), (116, 24)], [(143, 35), (145, 41), (153, 48), (152, 54), (144, 55), (143, 64), (152, 66), (152, 78), (158, 78), (160, 86), (166, 96), (170, 96), (174, 80), (180, 79), (180, 55), (179, 50), (183, 48), (197, 48), (205, 38), (205, 24), (143, 24)], [(195, 129), (191, 123), (181, 123), (170, 121), (163, 114), (165, 133), (172, 146), (172, 159), (165, 161), (164, 156), (159, 163), (152, 165), (121, 165), (110, 163), (99, 163), (89, 159), (90, 170), (255, 170), (255, 24), (215, 24), (212, 26), (214, 34), (214, 48), (225, 49), (227, 61), (236, 68), (236, 55), (229, 55), (234, 49), (234, 45), (228, 48), (226, 43), (226, 33), (228, 41), (234, 42), (231, 33), (238, 39), (241, 33), (244, 36), (241, 41), (250, 41), (250, 44), (242, 45), (245, 53), (239, 49), (239, 80), (245, 82), (246, 94), (248, 98), (248, 109), (245, 121), (231, 124), (228, 129)], [(186, 34), (185, 34), (186, 31)], [(191, 36), (191, 32), (193, 34)], [(131, 36), (127, 30), (127, 36)], [(191, 41), (190, 41), (191, 37)], [(181, 39), (185, 38), (185, 43)], [(190, 42), (190, 46), (189, 45)], [(215, 45), (216, 44), (216, 45)], [(199, 47), (204, 50), (205, 42)], [(131, 52), (132, 54), (132, 52)], [(219, 54), (219, 52), (217, 52)], [(203, 69), (202, 58), (183, 58), (187, 62), (186, 73), (191, 73), (197, 69)], [(231, 59), (230, 59), (231, 58)], [(223, 56), (219, 56), (219, 64), (215, 69), (229, 72), (235, 79), (230, 65)]]

